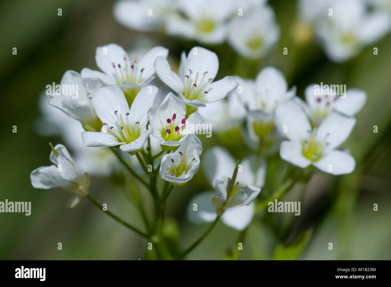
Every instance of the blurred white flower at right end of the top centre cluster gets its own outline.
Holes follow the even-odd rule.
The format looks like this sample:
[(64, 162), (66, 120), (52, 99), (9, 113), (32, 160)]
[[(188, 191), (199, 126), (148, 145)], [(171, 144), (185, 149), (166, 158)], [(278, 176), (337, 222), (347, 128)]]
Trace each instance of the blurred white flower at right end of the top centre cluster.
[(268, 5), (255, 7), (249, 15), (235, 17), (230, 24), (228, 43), (244, 57), (264, 57), (280, 38), (280, 27)]

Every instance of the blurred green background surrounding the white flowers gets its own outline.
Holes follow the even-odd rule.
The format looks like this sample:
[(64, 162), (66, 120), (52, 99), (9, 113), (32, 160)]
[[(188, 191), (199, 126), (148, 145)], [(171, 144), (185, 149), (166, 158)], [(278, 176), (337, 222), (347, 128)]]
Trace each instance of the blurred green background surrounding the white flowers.
[[(39, 136), (33, 127), (40, 116), (38, 96), (47, 84), (59, 82), (66, 70), (96, 69), (95, 48), (108, 43), (129, 50), (141, 39), (152, 39), (169, 48), (170, 61), (178, 60), (182, 50), (188, 51), (196, 45), (122, 27), (112, 16), (113, 3), (15, 0), (0, 4), (3, 107), (0, 201), (31, 201), (32, 205), (30, 216), (0, 213), (0, 259), (145, 258), (147, 242), (88, 200), (84, 199), (73, 210), (65, 210), (71, 194), (36, 190), (30, 184), (30, 172), (50, 164), (48, 142), (63, 143), (61, 137)], [(297, 184), (286, 198), (301, 198), (301, 216), (257, 215), (242, 241), (239, 258), (390, 259), (391, 35), (387, 34), (346, 63), (335, 64), (315, 45), (290, 50), (295, 1), (274, 0), (270, 4), (282, 33), (274, 53), (260, 61), (247, 61), (236, 56), (226, 44), (205, 46), (219, 56), (218, 78), (223, 75), (254, 78), (262, 67), (272, 65), (283, 71), (289, 86), (298, 87), (300, 97), (308, 84), (323, 81), (364, 89), (368, 100), (357, 114), (357, 125), (348, 141), (357, 161), (355, 171), (338, 177), (317, 173), (308, 185)], [(57, 16), (58, 8), (62, 9), (62, 16)], [(12, 54), (13, 47), (17, 48), (17, 55)], [(283, 47), (292, 52), (283, 56)], [(378, 48), (378, 55), (373, 55), (373, 47)], [(12, 132), (14, 125), (17, 133)], [(378, 126), (378, 133), (373, 133), (374, 125)], [(203, 141), (204, 151), (217, 144), (217, 139), (213, 140)], [(240, 158), (246, 150), (233, 152)], [(142, 227), (135, 205), (127, 200), (129, 191), (114, 184), (121, 180), (121, 177), (92, 177), (90, 193), (99, 202), (108, 203), (114, 213)], [(195, 193), (208, 189), (200, 170), (185, 189), (176, 188), (169, 197), (166, 216), (179, 226), (181, 248), (189, 246), (207, 226), (190, 224), (185, 207)], [(149, 194), (142, 193), (152, 210)], [(260, 196), (265, 198), (267, 194), (261, 191)], [(374, 203), (378, 204), (378, 211), (373, 211)], [(307, 232), (301, 233), (303, 230)], [(222, 259), (230, 248), (237, 248), (238, 234), (218, 223), (187, 258)], [(62, 243), (62, 250), (57, 250), (58, 242)], [(333, 243), (333, 250), (328, 250), (329, 242)]]

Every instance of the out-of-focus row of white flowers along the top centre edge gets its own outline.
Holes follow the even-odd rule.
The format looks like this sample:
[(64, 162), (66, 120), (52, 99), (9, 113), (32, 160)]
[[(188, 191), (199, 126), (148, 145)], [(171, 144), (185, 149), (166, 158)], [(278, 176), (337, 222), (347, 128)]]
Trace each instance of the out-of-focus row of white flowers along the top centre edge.
[(240, 55), (264, 57), (280, 38), (273, 9), (265, 0), (119, 0), (115, 19), (130, 29), (164, 30), (201, 44), (227, 41)]

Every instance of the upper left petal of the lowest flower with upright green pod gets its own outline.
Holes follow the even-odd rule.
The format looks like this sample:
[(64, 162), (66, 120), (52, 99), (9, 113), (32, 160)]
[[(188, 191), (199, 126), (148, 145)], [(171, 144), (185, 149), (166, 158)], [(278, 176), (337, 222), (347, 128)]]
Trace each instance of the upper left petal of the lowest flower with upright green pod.
[(217, 179), (227, 180), (236, 166), (236, 160), (222, 146), (215, 146), (206, 151), (202, 158), (202, 169), (209, 184), (214, 187)]

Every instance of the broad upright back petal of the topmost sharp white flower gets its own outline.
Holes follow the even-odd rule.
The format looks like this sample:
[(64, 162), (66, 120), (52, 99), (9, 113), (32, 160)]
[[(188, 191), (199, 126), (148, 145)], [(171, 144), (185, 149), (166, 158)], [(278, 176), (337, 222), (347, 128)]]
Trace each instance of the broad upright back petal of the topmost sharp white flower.
[(215, 52), (202, 47), (194, 47), (187, 55), (185, 71), (192, 70), (194, 73), (208, 72), (208, 77), (214, 79), (219, 70), (219, 59)]

